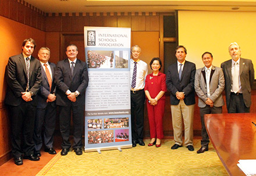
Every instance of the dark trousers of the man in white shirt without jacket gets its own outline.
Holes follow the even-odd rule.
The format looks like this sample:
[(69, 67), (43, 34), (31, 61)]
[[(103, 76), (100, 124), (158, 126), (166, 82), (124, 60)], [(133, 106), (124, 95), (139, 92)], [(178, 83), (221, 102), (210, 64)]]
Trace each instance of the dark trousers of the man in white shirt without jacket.
[(143, 139), (144, 103), (144, 89), (131, 91), (131, 138), (133, 140)]

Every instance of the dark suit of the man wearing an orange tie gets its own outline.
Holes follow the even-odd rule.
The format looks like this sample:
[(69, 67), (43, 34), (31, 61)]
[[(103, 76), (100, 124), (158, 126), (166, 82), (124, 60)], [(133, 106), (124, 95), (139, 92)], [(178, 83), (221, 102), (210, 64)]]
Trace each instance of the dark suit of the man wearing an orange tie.
[(49, 63), (52, 72), (52, 87), (50, 90), (47, 74), (44, 71), (44, 66), (41, 64), (42, 85), (38, 92), (37, 113), (35, 115), (34, 127), (34, 143), (35, 151), (39, 151), (42, 147), (42, 125), (44, 124), (44, 144), (46, 148), (52, 148), (54, 143), (55, 117), (56, 117), (56, 101), (47, 102), (49, 94), (55, 94), (56, 85), (54, 73), (56, 66), (54, 63)]

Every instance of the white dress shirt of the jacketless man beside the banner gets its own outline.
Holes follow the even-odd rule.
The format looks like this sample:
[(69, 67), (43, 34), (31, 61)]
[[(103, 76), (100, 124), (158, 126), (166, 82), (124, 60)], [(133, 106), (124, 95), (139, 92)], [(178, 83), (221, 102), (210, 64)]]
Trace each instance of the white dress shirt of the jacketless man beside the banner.
[[(145, 78), (148, 74), (148, 65), (142, 60), (137, 60), (137, 75), (136, 75), (136, 87), (131, 88), (131, 91), (138, 91), (144, 89), (145, 87)], [(134, 60), (131, 59), (130, 64), (130, 85), (131, 80), (133, 80), (133, 68), (134, 68)]]

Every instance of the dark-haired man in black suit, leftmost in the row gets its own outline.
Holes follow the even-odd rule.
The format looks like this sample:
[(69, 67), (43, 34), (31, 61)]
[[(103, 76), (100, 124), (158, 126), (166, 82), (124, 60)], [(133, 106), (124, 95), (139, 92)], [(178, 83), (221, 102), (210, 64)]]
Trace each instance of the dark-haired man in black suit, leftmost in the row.
[[(35, 41), (27, 38), (22, 44), (22, 53), (11, 56), (6, 66), (5, 103), (9, 107), (12, 132), (12, 155), (15, 164), (23, 164), (23, 158), (40, 160), (34, 156), (34, 119), (37, 107), (37, 92), (42, 77), (39, 60), (32, 55)], [(23, 136), (23, 138), (22, 138)], [(24, 155), (24, 156), (23, 156)]]

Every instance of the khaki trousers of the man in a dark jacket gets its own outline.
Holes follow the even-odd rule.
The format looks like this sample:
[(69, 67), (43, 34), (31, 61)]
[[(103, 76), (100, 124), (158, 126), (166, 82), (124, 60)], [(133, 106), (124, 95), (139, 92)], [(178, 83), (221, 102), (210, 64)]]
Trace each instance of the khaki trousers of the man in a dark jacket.
[(170, 105), (173, 135), (177, 145), (182, 145), (182, 121), (184, 122), (185, 132), (184, 145), (193, 145), (194, 106), (195, 105), (187, 106), (184, 100), (180, 100), (178, 105)]

